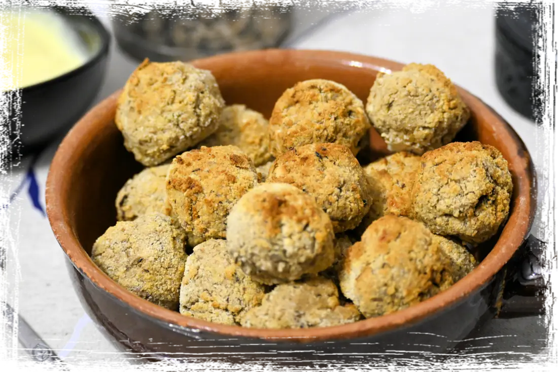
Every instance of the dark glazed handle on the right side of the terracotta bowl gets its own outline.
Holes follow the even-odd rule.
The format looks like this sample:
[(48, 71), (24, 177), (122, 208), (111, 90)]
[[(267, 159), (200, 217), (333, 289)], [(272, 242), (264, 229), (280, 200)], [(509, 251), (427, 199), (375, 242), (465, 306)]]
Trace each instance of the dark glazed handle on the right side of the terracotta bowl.
[(497, 318), (558, 316), (558, 244), (531, 235), (507, 268)]

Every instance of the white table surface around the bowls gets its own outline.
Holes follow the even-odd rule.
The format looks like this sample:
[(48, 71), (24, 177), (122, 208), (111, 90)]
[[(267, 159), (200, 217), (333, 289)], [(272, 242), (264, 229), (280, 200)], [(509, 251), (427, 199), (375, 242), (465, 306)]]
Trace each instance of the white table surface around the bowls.
[[(84, 3), (108, 23), (107, 1), (84, 0)], [(299, 0), (296, 30), (306, 29), (348, 3), (364, 2)], [(378, 0), (340, 14), (295, 46), (353, 51), (439, 66), (456, 83), (496, 109), (522, 136), (539, 177), (539, 212), (533, 232), (541, 239), (558, 240), (556, 134), (519, 116), (498, 96), (492, 73), (496, 5), (494, 0)], [(100, 97), (121, 87), (135, 64), (113, 50)], [(44, 195), (54, 151), (55, 146), (37, 164), (41, 195)], [(0, 165), (0, 201), (8, 198), (21, 182), (29, 160)], [(41, 198), (44, 203), (44, 197)], [(32, 208), (25, 192), (0, 214), (0, 236), (9, 256), (7, 271), (0, 280), (0, 295), (64, 356), (70, 367), (76, 372), (134, 371), (93, 323), (83, 318), (83, 309), (66, 274), (64, 255), (49, 224)], [(489, 322), (470, 342), (465, 354), (440, 371), (551, 372), (558, 369), (556, 332), (558, 327), (552, 317)], [(0, 360), (6, 365), (17, 365), (18, 371), (35, 370), (3, 322), (0, 322)]]

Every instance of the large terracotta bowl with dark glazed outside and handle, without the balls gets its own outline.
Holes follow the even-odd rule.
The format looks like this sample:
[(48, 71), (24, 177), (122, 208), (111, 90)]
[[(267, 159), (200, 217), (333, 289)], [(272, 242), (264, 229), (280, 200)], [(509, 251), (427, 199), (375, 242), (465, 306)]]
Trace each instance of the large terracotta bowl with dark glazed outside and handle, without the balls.
[[(228, 54), (194, 63), (213, 71), (227, 103), (244, 103), (267, 116), (283, 90), (300, 80), (335, 80), (365, 100), (378, 71), (402, 67), (362, 55), (294, 50)], [(445, 292), (387, 316), (329, 328), (258, 330), (209, 323), (158, 307), (93, 264), (93, 242), (116, 222), (118, 189), (141, 169), (114, 125), (119, 92), (114, 93), (68, 133), (47, 181), (52, 230), (68, 256), (84, 308), (138, 368), (204, 372), (419, 371), (487, 319), (554, 314), (557, 297), (551, 273), (558, 266), (558, 257), (552, 255), (556, 246), (527, 239), (537, 200), (531, 158), (501, 117), (465, 90), (460, 94), (472, 118), (458, 140), (496, 146), (509, 162), (514, 183), (509, 220), (484, 247), (478, 268)], [(385, 152), (381, 137), (372, 132), (370, 153)], [(533, 295), (537, 297), (525, 297)]]

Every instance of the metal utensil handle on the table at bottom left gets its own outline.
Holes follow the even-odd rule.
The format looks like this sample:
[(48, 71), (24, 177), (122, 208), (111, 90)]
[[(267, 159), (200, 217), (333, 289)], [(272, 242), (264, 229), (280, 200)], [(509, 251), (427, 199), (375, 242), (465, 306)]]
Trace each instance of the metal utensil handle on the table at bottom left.
[(71, 372), (54, 351), (46, 345), (33, 328), (16, 313), (11, 306), (0, 298), (0, 318), (4, 318), (8, 327), (25, 347), (41, 372)]

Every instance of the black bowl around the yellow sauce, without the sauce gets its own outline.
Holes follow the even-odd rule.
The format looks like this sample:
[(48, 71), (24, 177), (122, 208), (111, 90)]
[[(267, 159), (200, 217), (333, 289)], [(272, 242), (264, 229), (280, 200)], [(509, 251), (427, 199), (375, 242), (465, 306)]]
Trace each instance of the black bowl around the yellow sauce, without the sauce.
[(0, 159), (26, 154), (68, 129), (92, 104), (103, 82), (110, 45), (107, 29), (76, 0), (43, 3), (69, 21), (89, 58), (57, 78), (0, 93)]

